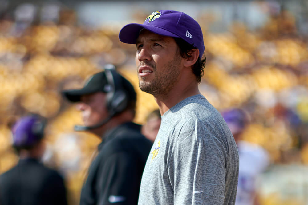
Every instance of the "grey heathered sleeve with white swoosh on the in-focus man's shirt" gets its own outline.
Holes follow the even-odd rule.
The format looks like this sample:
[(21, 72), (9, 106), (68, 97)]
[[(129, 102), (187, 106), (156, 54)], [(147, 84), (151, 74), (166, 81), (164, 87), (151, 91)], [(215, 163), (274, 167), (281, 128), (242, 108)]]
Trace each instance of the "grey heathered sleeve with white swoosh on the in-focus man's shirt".
[(174, 204), (223, 204), (226, 150), (203, 128), (180, 133), (169, 163)]

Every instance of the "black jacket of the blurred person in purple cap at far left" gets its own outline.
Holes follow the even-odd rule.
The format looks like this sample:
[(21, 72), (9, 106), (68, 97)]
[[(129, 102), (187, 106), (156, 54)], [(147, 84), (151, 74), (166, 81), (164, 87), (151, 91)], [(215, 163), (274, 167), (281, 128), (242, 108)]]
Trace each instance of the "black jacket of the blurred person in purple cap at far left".
[(19, 160), (0, 176), (1, 205), (66, 205), (63, 178), (36, 159)]

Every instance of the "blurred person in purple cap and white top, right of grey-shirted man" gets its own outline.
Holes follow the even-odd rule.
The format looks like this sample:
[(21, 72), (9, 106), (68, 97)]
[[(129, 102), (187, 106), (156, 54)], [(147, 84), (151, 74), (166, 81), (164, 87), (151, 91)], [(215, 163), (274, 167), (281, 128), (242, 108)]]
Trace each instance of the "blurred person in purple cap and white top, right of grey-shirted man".
[(230, 109), (222, 113), (237, 143), (240, 166), (236, 205), (257, 203), (257, 177), (269, 165), (267, 152), (259, 145), (241, 139), (241, 133), (249, 124), (249, 114), (243, 109)]

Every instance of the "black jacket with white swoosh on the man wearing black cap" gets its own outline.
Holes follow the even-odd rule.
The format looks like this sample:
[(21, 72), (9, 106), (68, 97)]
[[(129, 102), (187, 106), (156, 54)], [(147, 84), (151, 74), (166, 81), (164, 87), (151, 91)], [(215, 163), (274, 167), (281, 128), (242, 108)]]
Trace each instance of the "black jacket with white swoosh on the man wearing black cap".
[(83, 185), (80, 205), (137, 204), (141, 176), (152, 147), (140, 128), (129, 122), (103, 136)]

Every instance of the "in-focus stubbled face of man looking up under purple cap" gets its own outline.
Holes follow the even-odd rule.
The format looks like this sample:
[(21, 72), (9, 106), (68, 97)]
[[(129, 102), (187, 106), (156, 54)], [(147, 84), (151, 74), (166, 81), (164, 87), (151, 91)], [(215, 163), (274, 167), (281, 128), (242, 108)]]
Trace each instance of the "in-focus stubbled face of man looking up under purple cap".
[(139, 87), (154, 96), (164, 96), (178, 80), (183, 58), (172, 37), (142, 30), (136, 41)]

